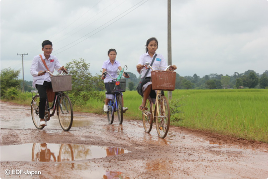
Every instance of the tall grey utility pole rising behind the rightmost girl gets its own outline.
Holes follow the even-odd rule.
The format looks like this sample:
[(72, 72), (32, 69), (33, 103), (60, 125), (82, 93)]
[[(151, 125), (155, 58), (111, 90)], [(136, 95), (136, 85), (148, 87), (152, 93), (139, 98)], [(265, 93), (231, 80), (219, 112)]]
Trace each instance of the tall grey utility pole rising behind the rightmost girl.
[[(171, 56), (171, 0), (168, 0), (168, 65), (172, 65), (172, 56)], [(168, 91), (168, 99), (172, 99), (172, 91)]]

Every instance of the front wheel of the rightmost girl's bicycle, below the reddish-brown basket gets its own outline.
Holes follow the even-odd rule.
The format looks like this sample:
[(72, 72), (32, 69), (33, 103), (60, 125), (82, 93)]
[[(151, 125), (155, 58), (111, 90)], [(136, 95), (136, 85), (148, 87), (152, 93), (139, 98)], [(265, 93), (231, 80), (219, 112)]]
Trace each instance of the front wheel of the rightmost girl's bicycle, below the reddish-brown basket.
[(157, 110), (154, 111), (156, 131), (160, 138), (165, 138), (168, 133), (170, 123), (169, 104), (165, 96), (160, 97), (158, 106), (159, 106), (159, 114)]

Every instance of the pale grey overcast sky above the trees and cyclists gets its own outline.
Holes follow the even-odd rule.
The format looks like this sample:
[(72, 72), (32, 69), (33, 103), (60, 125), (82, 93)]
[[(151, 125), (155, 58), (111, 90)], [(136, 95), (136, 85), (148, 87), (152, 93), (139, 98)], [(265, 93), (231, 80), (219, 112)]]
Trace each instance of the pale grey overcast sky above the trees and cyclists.
[[(268, 70), (268, 0), (171, 0), (172, 64), (180, 76)], [(136, 73), (150, 37), (167, 59), (167, 0), (1, 0), (0, 69), (30, 66), (51, 40), (62, 65), (83, 58), (92, 75), (108, 59)]]

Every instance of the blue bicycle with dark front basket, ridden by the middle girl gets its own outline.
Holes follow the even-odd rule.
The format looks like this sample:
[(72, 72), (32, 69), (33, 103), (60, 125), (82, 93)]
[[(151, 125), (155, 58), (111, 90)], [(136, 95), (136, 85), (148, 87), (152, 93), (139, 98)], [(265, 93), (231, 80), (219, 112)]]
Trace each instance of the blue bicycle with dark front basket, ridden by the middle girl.
[[(128, 67), (125, 65), (126, 70)], [(114, 113), (117, 112), (118, 116), (118, 123), (122, 124), (123, 123), (123, 104), (122, 104), (122, 92), (126, 91), (126, 79), (121, 79), (122, 75), (124, 73), (125, 67), (120, 71), (119, 75), (117, 78), (113, 78), (109, 72), (104, 72), (103, 75), (104, 77), (108, 74), (113, 80), (109, 82), (109, 87), (111, 91), (114, 93), (114, 99), (110, 100), (108, 102), (108, 111), (107, 113), (107, 119), (109, 124), (113, 124), (114, 122)], [(125, 73), (126, 76), (128, 76), (127, 73)], [(107, 91), (105, 92), (105, 94)]]

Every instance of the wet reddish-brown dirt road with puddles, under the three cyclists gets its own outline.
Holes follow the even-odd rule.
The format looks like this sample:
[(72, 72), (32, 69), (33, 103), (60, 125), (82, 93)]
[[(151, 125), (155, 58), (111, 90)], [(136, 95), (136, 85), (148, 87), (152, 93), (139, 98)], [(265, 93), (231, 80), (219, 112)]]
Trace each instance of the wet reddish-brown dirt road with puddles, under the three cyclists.
[(268, 178), (268, 144), (258, 141), (181, 127), (160, 139), (155, 126), (147, 134), (141, 121), (88, 113), (74, 113), (68, 132), (57, 117), (38, 130), (29, 106), (0, 107), (1, 179)]

